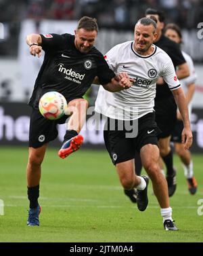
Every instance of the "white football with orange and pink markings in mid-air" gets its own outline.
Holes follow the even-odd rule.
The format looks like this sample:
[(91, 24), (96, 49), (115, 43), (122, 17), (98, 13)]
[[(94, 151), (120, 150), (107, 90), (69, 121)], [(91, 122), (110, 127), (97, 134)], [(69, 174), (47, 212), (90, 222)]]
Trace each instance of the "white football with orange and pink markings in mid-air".
[(57, 120), (65, 114), (66, 98), (59, 92), (47, 92), (39, 100), (39, 111), (49, 120)]

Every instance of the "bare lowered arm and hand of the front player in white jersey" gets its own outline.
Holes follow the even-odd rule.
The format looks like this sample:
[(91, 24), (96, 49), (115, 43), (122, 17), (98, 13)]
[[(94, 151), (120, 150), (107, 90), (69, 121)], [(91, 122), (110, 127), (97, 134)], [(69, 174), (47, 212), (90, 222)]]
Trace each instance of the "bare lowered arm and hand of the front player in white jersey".
[(188, 109), (187, 102), (185, 99), (185, 94), (182, 88), (178, 88), (177, 90), (173, 90), (173, 96), (175, 97), (175, 101), (183, 118), (184, 128), (182, 132), (182, 143), (185, 143), (184, 148), (189, 149), (192, 144), (192, 133), (189, 124), (188, 117)]

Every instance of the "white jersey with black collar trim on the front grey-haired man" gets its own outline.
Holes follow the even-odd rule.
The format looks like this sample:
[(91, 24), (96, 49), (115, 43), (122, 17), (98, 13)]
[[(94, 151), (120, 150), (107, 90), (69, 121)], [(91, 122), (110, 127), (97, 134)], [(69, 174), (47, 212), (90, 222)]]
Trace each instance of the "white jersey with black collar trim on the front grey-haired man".
[(126, 72), (135, 79), (131, 88), (120, 92), (108, 92), (99, 88), (95, 111), (118, 120), (135, 120), (154, 111), (156, 81), (162, 76), (170, 90), (181, 87), (171, 58), (153, 45), (154, 52), (148, 56), (137, 54), (134, 41), (120, 43), (105, 56), (114, 73)]

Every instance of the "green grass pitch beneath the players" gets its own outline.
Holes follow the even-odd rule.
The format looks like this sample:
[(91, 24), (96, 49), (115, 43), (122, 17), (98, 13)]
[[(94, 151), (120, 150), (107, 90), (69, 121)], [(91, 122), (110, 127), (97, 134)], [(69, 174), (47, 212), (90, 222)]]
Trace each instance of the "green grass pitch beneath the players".
[[(0, 242), (203, 242), (202, 156), (194, 155), (198, 192), (191, 196), (175, 158), (177, 191), (170, 199), (178, 232), (166, 232), (160, 208), (148, 191), (149, 205), (139, 212), (124, 194), (106, 151), (81, 148), (65, 160), (47, 149), (42, 168), (39, 227), (26, 226), (26, 147), (0, 147)], [(203, 214), (200, 211), (200, 213)]]

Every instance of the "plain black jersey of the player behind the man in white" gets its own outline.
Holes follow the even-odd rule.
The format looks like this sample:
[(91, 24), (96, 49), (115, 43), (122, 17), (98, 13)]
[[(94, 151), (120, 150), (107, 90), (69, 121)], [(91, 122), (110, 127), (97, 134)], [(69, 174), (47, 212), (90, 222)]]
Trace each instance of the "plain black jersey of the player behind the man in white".
[[(179, 48), (179, 45), (172, 41), (171, 39), (168, 39), (168, 37), (162, 35), (160, 39), (154, 43), (159, 48), (164, 50), (166, 54), (171, 58), (173, 65), (176, 69), (178, 65), (181, 65), (185, 63), (185, 58), (183, 57), (183, 54), (181, 53), (181, 50)], [(162, 100), (163, 98), (171, 97), (173, 94), (171, 90), (169, 90), (167, 84), (164, 82), (163, 85), (156, 86), (156, 100)]]

